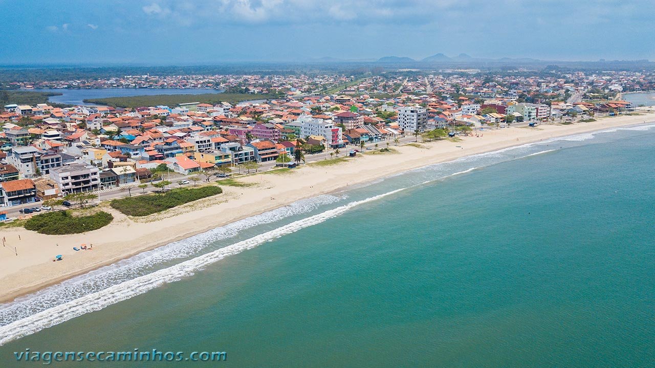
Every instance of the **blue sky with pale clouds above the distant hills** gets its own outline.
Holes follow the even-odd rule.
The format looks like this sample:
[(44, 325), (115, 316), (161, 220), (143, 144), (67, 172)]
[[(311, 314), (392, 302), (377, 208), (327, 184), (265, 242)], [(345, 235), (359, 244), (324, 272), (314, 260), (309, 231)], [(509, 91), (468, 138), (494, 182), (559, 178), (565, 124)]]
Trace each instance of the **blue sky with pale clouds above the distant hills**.
[(0, 64), (655, 60), (654, 0), (0, 0)]

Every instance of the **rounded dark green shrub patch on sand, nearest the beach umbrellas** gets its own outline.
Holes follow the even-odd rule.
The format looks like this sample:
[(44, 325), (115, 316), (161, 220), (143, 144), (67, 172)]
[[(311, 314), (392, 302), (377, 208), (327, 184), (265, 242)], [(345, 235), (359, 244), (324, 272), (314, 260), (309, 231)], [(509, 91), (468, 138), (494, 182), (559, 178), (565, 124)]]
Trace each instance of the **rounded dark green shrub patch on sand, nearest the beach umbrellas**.
[(111, 213), (97, 212), (86, 216), (73, 216), (70, 211), (56, 211), (32, 216), (25, 229), (48, 235), (79, 234), (100, 229), (111, 223)]

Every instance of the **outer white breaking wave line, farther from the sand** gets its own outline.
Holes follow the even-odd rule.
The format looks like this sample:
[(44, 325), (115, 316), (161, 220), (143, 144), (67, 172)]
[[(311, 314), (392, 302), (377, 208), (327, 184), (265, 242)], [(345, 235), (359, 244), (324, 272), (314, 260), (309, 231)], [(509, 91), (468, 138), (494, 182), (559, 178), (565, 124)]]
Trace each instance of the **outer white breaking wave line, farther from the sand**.
[(318, 213), (317, 215), (312, 215), (305, 219), (294, 221), (288, 225), (279, 227), (278, 229), (253, 236), (247, 240), (236, 242), (231, 246), (217, 249), (210, 253), (206, 253), (193, 259), (183, 261), (177, 265), (163, 268), (161, 270), (139, 276), (138, 278), (134, 278), (132, 280), (121, 282), (121, 284), (111, 285), (106, 289), (96, 291), (94, 293), (81, 295), (81, 297), (68, 301), (67, 303), (58, 304), (56, 306), (52, 306), (52, 308), (48, 308), (47, 310), (42, 310), (41, 312), (31, 314), (26, 318), (16, 320), (12, 323), (9, 323), (8, 325), (0, 327), (0, 346), (12, 340), (20, 339), (21, 337), (41, 331), (42, 329), (52, 327), (53, 325), (57, 325), (67, 320), (71, 320), (77, 316), (81, 316), (95, 310), (101, 310), (102, 308), (110, 306), (111, 304), (130, 299), (136, 295), (140, 295), (151, 289), (155, 289), (155, 287), (159, 287), (160, 285), (176, 282), (181, 280), (181, 278), (193, 275), (196, 271), (202, 270), (208, 265), (220, 261), (225, 257), (229, 257), (230, 255), (240, 253), (247, 249), (255, 248), (264, 242), (280, 238), (286, 234), (291, 234), (292, 232), (305, 229), (306, 227), (322, 223), (327, 219), (331, 219), (345, 213), (355, 206), (379, 200), (380, 198), (390, 196), (391, 194), (398, 193), (405, 189), (407, 188), (396, 189), (395, 191), (372, 196), (364, 200), (350, 202), (344, 206), (334, 208), (333, 210), (327, 210), (326, 212)]

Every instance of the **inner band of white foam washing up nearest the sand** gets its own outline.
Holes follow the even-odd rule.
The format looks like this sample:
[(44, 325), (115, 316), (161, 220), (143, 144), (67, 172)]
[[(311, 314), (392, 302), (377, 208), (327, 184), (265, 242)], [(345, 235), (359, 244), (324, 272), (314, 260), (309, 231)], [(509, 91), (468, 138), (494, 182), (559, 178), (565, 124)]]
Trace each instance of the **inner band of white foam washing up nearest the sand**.
[(112, 265), (87, 272), (60, 284), (47, 287), (37, 293), (18, 298), (12, 303), (0, 305), (0, 325), (8, 325), (58, 304), (73, 301), (84, 297), (86, 294), (147, 274), (152, 272), (154, 268), (161, 267), (161, 265), (176, 259), (192, 257), (211, 246), (213, 242), (233, 238), (243, 230), (257, 225), (274, 223), (293, 215), (308, 213), (316, 210), (319, 206), (338, 202), (344, 198), (347, 198), (347, 196), (322, 195), (299, 200), (288, 206), (235, 221), (223, 227), (217, 227), (202, 234), (172, 242), (166, 246), (145, 251)]

